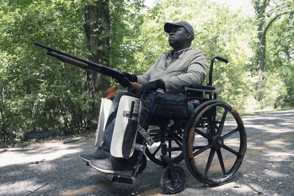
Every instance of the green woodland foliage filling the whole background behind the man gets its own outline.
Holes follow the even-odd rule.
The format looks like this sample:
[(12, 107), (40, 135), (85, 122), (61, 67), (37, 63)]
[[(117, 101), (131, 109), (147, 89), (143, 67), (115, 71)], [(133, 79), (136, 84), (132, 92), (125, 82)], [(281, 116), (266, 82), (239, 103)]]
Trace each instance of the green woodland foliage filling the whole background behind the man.
[[(293, 6), (287, 6), (287, 13), (268, 25), (266, 67), (260, 78), (256, 63), (258, 18), (209, 0), (156, 2), (151, 9), (144, 6), (143, 0), (109, 2), (110, 30), (92, 35), (98, 39), (109, 37), (109, 48), (95, 46), (98, 51), (109, 50), (109, 57), (101, 64), (143, 74), (161, 53), (172, 49), (163, 25), (188, 21), (196, 35), (192, 48), (205, 51), (208, 62), (213, 56), (229, 60), (228, 64), (215, 61), (213, 67), (213, 86), (221, 91), (218, 99), (240, 113), (293, 107)], [(291, 3), (272, 2), (273, 13), (283, 11), (278, 6), (283, 2)], [(75, 134), (84, 131), (83, 118), (96, 123), (96, 116), (85, 111), (97, 105), (102, 95), (83, 93), (85, 72), (47, 57), (46, 51), (33, 43), (81, 58), (91, 57), (83, 11), (87, 5), (99, 6), (99, 1), (2, 0), (0, 5), (0, 140), (14, 140), (33, 130)], [(103, 80), (116, 85), (108, 77)], [(99, 86), (101, 83), (95, 84)]]

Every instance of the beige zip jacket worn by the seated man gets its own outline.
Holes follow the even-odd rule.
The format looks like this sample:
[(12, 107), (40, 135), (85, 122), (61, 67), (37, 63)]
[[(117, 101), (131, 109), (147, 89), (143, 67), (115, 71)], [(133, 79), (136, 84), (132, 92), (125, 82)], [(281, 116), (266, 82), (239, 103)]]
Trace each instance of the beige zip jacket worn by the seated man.
[[(146, 73), (138, 76), (138, 83), (163, 79), (166, 93), (181, 93), (184, 86), (203, 84), (207, 66), (206, 54), (201, 50), (190, 47), (171, 62), (168, 52), (165, 52)], [(162, 89), (160, 91), (163, 92)]]

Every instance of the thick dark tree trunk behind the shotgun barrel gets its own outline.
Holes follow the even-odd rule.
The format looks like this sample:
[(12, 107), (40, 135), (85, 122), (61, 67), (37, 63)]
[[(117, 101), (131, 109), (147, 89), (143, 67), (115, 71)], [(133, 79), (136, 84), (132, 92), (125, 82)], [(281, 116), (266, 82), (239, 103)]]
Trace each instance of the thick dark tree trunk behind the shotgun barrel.
[[(86, 45), (90, 53), (88, 59), (109, 66), (109, 0), (98, 0), (86, 5), (84, 17)], [(99, 96), (106, 97), (106, 89), (110, 86), (107, 79), (99, 73), (86, 70), (84, 92), (88, 96), (86, 104), (90, 107), (83, 115), (83, 126), (86, 129), (96, 129), (96, 125), (91, 124), (91, 120), (97, 119), (100, 107), (93, 100), (97, 100)]]

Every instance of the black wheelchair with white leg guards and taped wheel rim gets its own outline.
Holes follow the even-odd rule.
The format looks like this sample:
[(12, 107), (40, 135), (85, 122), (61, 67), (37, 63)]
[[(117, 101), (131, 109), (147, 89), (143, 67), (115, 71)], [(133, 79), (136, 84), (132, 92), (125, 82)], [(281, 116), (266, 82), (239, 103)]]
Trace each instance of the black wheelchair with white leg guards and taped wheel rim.
[[(218, 185), (232, 178), (242, 164), (247, 148), (247, 135), (237, 110), (216, 99), (220, 91), (212, 86), (215, 59), (228, 63), (228, 60), (214, 56), (210, 64), (209, 83), (185, 87), (184, 93), (193, 103), (194, 114), (188, 118), (176, 119), (155, 116), (148, 131), (138, 125), (137, 133), (142, 135), (144, 141), (136, 144), (135, 139), (132, 146), (131, 153), (134, 149), (140, 150), (133, 175), (107, 174), (110, 180), (134, 184), (138, 173), (143, 172), (147, 164), (144, 152), (151, 161), (164, 167), (160, 184), (167, 194), (180, 192), (186, 182), (185, 171), (178, 165), (183, 160), (191, 175), (204, 184)], [(98, 147), (97, 143), (101, 144), (103, 140), (103, 137), (98, 136), (98, 130), (105, 128), (105, 118), (108, 115), (107, 112), (103, 114), (103, 111), (107, 111), (110, 105), (111, 102), (104, 105), (101, 103), (101, 109), (104, 109), (100, 110), (97, 128)], [(139, 113), (138, 103), (136, 107)], [(130, 108), (123, 108), (124, 115), (132, 116), (131, 108), (134, 108), (134, 104)], [(123, 137), (117, 137), (121, 139), (116, 138), (116, 145), (123, 140)], [(114, 148), (120, 149), (121, 146)], [(121, 152), (111, 151), (112, 155), (113, 153), (122, 157)]]

